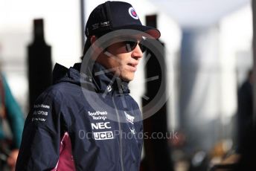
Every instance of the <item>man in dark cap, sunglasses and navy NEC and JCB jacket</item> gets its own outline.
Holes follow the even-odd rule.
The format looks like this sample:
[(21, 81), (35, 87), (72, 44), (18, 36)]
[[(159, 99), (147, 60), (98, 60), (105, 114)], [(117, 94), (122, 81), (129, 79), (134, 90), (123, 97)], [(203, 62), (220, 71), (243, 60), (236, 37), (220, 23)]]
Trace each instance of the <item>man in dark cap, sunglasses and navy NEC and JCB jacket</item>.
[(92, 11), (83, 62), (55, 66), (57, 81), (28, 114), (16, 170), (139, 170), (141, 113), (128, 83), (147, 35), (158, 39), (160, 32), (141, 25), (126, 2)]

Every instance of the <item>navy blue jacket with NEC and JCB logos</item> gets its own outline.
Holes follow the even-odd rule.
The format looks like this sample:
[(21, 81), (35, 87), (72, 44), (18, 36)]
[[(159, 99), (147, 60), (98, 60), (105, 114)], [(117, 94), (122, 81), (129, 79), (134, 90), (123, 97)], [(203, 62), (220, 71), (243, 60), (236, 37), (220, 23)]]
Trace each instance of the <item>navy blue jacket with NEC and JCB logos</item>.
[[(75, 170), (139, 170), (141, 112), (128, 83), (100, 72), (105, 68), (98, 63), (80, 74), (80, 65), (54, 68), (58, 81), (37, 98), (25, 121), (16, 170), (71, 170), (68, 161)], [(67, 134), (71, 156), (60, 164)]]

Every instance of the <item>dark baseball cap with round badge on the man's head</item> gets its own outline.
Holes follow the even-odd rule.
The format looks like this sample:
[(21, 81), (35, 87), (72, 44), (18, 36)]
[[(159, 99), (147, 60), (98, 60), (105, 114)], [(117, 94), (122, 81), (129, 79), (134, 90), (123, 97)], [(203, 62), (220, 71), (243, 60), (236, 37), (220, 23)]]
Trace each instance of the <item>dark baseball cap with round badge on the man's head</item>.
[(86, 36), (102, 35), (113, 30), (139, 30), (159, 39), (161, 33), (156, 28), (141, 24), (135, 9), (124, 1), (106, 1), (92, 10), (86, 23)]

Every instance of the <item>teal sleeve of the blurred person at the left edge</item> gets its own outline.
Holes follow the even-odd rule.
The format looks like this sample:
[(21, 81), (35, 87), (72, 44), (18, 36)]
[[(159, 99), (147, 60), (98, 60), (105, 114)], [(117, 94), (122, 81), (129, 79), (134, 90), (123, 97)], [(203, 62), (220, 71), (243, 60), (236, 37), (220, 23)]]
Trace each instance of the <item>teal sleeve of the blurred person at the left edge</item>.
[(4, 104), (7, 110), (7, 120), (10, 125), (11, 132), (13, 133), (13, 145), (19, 148), (22, 141), (22, 130), (24, 126), (24, 115), (22, 109), (13, 97), (10, 88), (2, 76), (4, 86)]

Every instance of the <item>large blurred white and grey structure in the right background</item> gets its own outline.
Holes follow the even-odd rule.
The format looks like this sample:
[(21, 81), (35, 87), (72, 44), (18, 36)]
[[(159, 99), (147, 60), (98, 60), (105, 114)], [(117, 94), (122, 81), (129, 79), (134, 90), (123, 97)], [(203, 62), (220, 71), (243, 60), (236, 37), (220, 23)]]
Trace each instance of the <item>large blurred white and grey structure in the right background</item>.
[(252, 68), (250, 5), (215, 25), (185, 30), (181, 63), (180, 111), (188, 141), (210, 149), (235, 133), (237, 88)]

